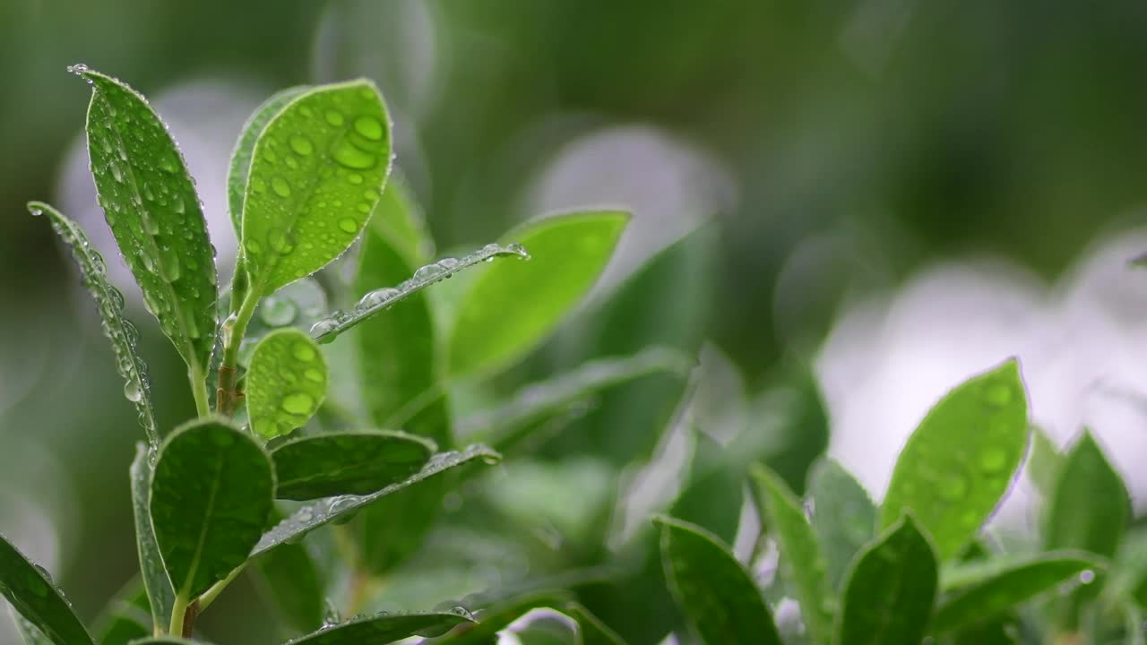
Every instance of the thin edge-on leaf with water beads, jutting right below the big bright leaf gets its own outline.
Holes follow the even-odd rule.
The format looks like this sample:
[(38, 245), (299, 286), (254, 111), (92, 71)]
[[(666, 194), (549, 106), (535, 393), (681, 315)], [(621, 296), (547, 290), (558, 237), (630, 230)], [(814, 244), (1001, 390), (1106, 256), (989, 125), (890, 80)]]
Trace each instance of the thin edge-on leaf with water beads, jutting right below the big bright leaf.
[(364, 295), (354, 309), (350, 311), (336, 311), (329, 317), (319, 320), (311, 327), (311, 337), (320, 343), (329, 343), (338, 334), (358, 325), (362, 320), (385, 310), (401, 300), (409, 297), (422, 289), (451, 278), (455, 273), (478, 265), (483, 262), (492, 261), (496, 257), (512, 256), (528, 259), (530, 255), (521, 244), (502, 247), (500, 244), (486, 244), (477, 251), (461, 258), (444, 257), (438, 262), (427, 264), (414, 272), (414, 277), (397, 287), (383, 287)]

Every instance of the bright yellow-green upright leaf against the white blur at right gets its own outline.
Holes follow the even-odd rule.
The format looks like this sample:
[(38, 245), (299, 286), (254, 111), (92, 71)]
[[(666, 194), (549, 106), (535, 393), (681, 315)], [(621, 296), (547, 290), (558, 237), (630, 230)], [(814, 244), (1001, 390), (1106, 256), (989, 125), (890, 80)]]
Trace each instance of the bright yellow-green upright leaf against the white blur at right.
[(1028, 444), (1028, 402), (1012, 359), (968, 379), (908, 437), (881, 507), (881, 526), (911, 510), (942, 560), (976, 535), (1012, 483)]

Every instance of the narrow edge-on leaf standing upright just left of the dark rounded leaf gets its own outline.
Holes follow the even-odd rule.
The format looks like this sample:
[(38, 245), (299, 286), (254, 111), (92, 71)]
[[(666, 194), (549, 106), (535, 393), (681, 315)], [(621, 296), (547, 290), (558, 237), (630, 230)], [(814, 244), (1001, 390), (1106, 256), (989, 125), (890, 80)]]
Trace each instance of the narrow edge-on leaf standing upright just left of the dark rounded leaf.
[(167, 629), (175, 591), (171, 588), (167, 569), (163, 566), (159, 544), (151, 523), (151, 464), (154, 453), (142, 443), (135, 444), (132, 461), (132, 512), (135, 515), (135, 547), (140, 558), (140, 576), (147, 590), (148, 604), (155, 627)]

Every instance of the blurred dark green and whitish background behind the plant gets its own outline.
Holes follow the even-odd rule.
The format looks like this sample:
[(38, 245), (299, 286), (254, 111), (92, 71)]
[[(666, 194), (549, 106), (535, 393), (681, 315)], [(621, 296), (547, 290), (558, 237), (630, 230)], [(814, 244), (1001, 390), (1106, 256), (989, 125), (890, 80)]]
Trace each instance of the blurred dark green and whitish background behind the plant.
[[(773, 457), (791, 481), (827, 442), (879, 498), (927, 409), (1017, 356), (1032, 421), (1059, 444), (1094, 428), (1142, 511), (1147, 273), (1128, 261), (1147, 251), (1145, 33), (1133, 0), (7, 0), (0, 531), (88, 619), (136, 566), (134, 412), (67, 250), (24, 209), (56, 203), (116, 257), (87, 173), (89, 92), (64, 71), (77, 62), (165, 118), (224, 265), (226, 161), (248, 115), (279, 88), (365, 76), (439, 249), (555, 209), (627, 205), (590, 311), (687, 240), (689, 258), (658, 256), (660, 318), (635, 337), (703, 343), (725, 375), (716, 411), (736, 396), (755, 432), (790, 427)], [(173, 427), (194, 413), (181, 364), (109, 264)], [(494, 387), (593, 355), (590, 320)], [(810, 391), (814, 428), (789, 396)], [(608, 496), (595, 468), (630, 461), (591, 457), (562, 472)], [(1025, 489), (998, 522), (1030, 522)], [(258, 634), (265, 607), (247, 591), (212, 614)]]

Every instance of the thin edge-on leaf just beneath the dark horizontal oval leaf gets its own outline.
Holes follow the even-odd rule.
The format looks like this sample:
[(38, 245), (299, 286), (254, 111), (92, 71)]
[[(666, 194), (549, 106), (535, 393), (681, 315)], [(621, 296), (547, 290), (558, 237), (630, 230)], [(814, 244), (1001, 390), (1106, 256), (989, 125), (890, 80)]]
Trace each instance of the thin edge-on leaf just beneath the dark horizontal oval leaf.
[(460, 452), (442, 452), (430, 458), (430, 461), (416, 474), (401, 482), (388, 485), (377, 492), (361, 497), (354, 495), (331, 497), (317, 504), (304, 506), (265, 533), (251, 552), (251, 557), (259, 555), (284, 542), (302, 537), (327, 522), (350, 518), (379, 499), (393, 495), (406, 487), (419, 484), (451, 468), (474, 461), (496, 464), (500, 458), (500, 454), (484, 445), (471, 445)]

